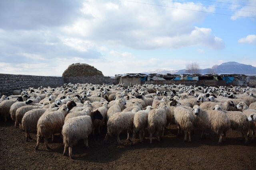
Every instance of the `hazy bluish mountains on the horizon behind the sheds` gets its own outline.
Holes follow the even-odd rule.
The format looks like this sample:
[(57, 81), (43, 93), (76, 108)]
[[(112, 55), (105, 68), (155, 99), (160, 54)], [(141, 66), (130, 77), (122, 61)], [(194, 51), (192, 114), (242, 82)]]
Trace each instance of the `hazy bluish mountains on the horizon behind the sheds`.
[[(186, 69), (183, 70), (164, 70), (158, 69), (144, 74), (157, 73), (157, 74), (186, 74)], [(237, 62), (227, 62), (220, 65), (214, 65), (212, 68), (199, 69), (200, 74), (256, 74), (256, 67), (252, 65), (241, 64)]]

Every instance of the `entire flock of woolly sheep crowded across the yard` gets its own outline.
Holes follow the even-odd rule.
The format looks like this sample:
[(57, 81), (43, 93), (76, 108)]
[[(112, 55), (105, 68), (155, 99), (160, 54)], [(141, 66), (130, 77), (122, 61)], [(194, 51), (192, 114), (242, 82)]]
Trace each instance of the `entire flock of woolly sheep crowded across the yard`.
[(36, 150), (44, 139), (61, 133), (64, 155), (83, 139), (88, 146), (88, 136), (107, 128), (104, 142), (115, 135), (128, 134), (134, 141), (138, 134), (143, 143), (146, 131), (150, 143), (153, 135), (158, 141), (171, 124), (178, 126), (178, 134), (184, 131), (184, 142), (191, 142), (195, 128), (202, 130), (201, 137), (209, 132), (219, 136), (218, 143), (226, 140), (226, 132), (232, 128), (241, 132), (245, 142), (255, 138), (256, 98), (254, 88), (201, 87), (185, 85), (134, 85), (124, 84), (64, 84), (57, 88), (28, 88), (15, 90), (11, 96), (0, 99), (0, 116), (10, 117), (15, 127), (30, 133), (37, 131)]

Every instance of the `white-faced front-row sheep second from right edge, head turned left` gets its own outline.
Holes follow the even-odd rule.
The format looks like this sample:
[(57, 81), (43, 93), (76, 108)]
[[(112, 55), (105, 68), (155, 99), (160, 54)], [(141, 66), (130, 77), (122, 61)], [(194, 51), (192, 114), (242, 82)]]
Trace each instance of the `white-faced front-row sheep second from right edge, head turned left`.
[[(222, 110), (220, 105), (214, 106), (215, 110)], [(232, 130), (241, 131), (242, 137), (245, 139), (245, 143), (248, 143), (247, 132), (249, 129), (249, 123), (246, 121), (247, 116), (241, 111), (225, 111), (228, 118), (230, 119), (230, 127)]]

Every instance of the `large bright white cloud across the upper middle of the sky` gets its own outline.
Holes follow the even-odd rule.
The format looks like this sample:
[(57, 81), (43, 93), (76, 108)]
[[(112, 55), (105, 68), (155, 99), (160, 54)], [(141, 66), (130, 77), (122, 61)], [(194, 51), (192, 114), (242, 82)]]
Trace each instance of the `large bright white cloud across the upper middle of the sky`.
[(214, 8), (162, 3), (173, 8), (122, 1), (84, 2), (82, 12), (85, 17), (78, 18), (62, 30), (112, 47), (177, 49), (203, 45), (212, 49), (224, 48), (222, 39), (212, 35), (211, 29), (194, 27), (194, 23), (203, 21), (207, 14), (176, 9), (214, 12)]

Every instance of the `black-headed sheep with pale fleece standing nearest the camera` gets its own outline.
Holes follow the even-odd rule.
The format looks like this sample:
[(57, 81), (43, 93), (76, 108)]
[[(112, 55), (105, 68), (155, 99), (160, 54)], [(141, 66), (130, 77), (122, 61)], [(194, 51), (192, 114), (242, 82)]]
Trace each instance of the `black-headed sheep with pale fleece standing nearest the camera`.
[(69, 150), (70, 158), (73, 158), (72, 147), (78, 143), (80, 139), (84, 139), (84, 144), (88, 148), (88, 136), (92, 133), (94, 120), (102, 120), (102, 115), (99, 111), (92, 112), (91, 115), (73, 117), (66, 121), (62, 128), (64, 152)]

